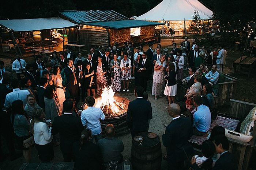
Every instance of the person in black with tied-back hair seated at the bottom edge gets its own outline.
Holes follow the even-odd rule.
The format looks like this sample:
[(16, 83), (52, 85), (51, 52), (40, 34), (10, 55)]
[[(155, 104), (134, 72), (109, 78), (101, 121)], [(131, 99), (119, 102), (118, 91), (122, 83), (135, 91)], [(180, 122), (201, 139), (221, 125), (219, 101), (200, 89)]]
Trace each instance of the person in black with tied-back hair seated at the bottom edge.
[(102, 156), (99, 147), (90, 141), (91, 130), (84, 129), (80, 141), (73, 143), (75, 156), (74, 170), (93, 169), (101, 170)]

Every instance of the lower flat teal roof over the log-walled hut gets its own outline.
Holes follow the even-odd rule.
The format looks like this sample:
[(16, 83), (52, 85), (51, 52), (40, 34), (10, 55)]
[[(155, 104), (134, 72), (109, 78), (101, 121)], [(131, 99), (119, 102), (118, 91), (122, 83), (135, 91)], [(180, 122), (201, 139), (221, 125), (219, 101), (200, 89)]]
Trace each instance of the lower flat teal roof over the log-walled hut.
[(111, 28), (111, 29), (125, 29), (125, 28), (136, 28), (153, 25), (163, 25), (164, 23), (142, 21), (142, 20), (121, 20), (121, 21), (105, 21), (105, 22), (93, 22), (86, 23), (86, 25)]

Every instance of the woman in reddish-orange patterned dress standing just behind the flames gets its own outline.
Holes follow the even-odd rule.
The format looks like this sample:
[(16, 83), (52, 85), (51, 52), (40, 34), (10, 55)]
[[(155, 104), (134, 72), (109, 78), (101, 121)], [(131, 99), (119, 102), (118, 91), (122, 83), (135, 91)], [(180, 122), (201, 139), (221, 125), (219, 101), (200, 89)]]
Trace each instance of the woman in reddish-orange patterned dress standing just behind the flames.
[(107, 71), (105, 68), (105, 65), (102, 63), (102, 58), (98, 57), (98, 64), (97, 64), (97, 70), (96, 70), (96, 80), (97, 80), (97, 94), (98, 96), (101, 96), (102, 89), (106, 86), (106, 75)]

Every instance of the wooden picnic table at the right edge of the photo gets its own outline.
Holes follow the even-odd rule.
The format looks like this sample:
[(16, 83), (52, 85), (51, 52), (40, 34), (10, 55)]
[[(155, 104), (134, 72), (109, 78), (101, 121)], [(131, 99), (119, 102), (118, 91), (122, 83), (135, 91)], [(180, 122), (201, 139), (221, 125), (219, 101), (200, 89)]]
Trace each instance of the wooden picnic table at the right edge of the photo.
[(236, 61), (233, 62), (233, 67), (234, 67), (234, 74), (236, 74), (236, 66), (240, 64), (241, 67), (247, 67), (249, 68), (249, 72), (248, 72), (248, 77), (251, 74), (251, 71), (253, 70), (253, 68), (255, 68), (256, 65), (256, 58), (255, 57), (247, 57), (247, 56), (242, 56), (241, 58), (238, 58)]

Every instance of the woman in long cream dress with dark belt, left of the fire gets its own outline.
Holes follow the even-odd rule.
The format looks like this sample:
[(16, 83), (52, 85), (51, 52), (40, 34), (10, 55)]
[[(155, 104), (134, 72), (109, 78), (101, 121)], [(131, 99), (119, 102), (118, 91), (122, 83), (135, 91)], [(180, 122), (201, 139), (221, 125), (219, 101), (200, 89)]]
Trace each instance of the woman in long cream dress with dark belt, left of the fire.
[(53, 68), (53, 74), (54, 74), (54, 84), (56, 88), (56, 93), (59, 98), (59, 104), (60, 104), (60, 111), (63, 111), (63, 102), (66, 100), (65, 98), (65, 87), (62, 85), (62, 78), (60, 75), (60, 67), (54, 67)]

